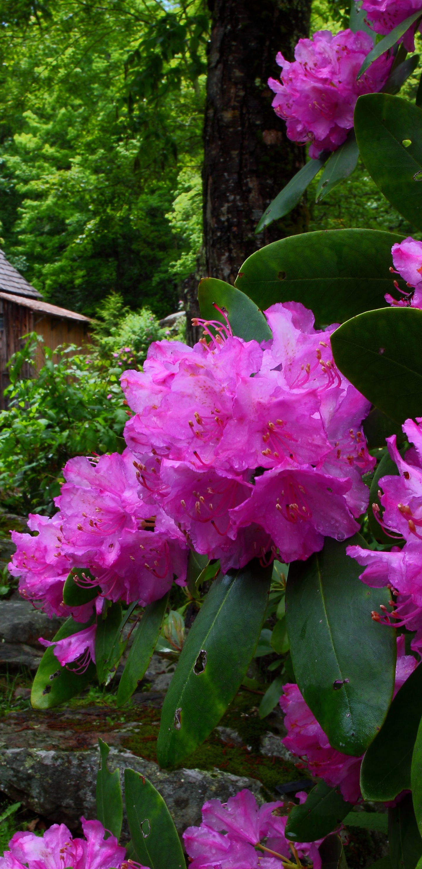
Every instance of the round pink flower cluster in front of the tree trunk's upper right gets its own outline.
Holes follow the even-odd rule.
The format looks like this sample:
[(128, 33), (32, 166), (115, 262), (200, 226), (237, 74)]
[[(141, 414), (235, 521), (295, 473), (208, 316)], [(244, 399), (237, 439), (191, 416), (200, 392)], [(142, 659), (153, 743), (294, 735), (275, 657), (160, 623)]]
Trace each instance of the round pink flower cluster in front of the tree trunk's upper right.
[(356, 81), (359, 68), (373, 48), (363, 30), (318, 30), (311, 39), (300, 39), (289, 63), (282, 54), (276, 60), (281, 82), (269, 78), (274, 90), (275, 113), (287, 121), (287, 136), (293, 142), (311, 143), (309, 156), (334, 151), (345, 142), (353, 127), (358, 96), (383, 87), (392, 67), (392, 57), (382, 55)]

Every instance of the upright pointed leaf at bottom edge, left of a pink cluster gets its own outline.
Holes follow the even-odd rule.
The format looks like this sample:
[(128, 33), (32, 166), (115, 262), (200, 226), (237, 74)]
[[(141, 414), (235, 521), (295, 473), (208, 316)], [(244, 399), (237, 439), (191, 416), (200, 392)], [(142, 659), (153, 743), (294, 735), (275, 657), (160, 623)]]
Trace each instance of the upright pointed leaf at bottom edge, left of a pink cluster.
[(149, 869), (185, 869), (173, 819), (151, 782), (125, 769), (124, 800), (136, 860)]

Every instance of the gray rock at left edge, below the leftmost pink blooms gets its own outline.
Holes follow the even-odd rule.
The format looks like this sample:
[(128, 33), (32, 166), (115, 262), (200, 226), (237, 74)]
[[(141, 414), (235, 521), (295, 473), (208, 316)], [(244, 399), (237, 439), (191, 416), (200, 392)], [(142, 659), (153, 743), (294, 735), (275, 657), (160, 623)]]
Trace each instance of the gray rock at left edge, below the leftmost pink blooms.
[(44, 651), (38, 637), (51, 640), (63, 619), (49, 619), (36, 610), (29, 600), (3, 600), (0, 603), (0, 654), (4, 643), (25, 643)]

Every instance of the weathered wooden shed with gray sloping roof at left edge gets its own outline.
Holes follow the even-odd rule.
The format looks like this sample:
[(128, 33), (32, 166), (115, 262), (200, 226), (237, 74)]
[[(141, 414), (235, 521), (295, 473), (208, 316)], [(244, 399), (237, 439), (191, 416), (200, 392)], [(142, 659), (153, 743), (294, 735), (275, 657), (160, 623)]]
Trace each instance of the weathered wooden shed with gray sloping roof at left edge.
[[(0, 250), (0, 407), (4, 407), (3, 389), (9, 385), (10, 356), (23, 347), (23, 335), (42, 335), (43, 345), (55, 350), (59, 344), (82, 347), (90, 342), (89, 317), (43, 302), (41, 293), (25, 281)], [(43, 365), (41, 348), (36, 354), (36, 368)], [(23, 370), (29, 376), (30, 370)]]

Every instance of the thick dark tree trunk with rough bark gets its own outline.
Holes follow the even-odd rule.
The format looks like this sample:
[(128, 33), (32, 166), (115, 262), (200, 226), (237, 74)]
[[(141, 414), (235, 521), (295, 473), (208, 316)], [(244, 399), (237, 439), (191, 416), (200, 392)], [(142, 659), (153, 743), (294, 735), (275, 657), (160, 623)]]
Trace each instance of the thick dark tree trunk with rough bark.
[[(304, 163), (304, 149), (287, 139), (271, 108), (267, 78), (280, 74), (277, 52), (292, 60), (298, 39), (307, 36), (310, 6), (310, 0), (208, 0), (202, 275), (234, 283), (254, 250), (306, 229), (301, 205), (254, 235), (263, 211)], [(189, 275), (188, 322), (197, 315), (196, 287), (196, 275)], [(197, 335), (190, 329), (188, 337)]]

